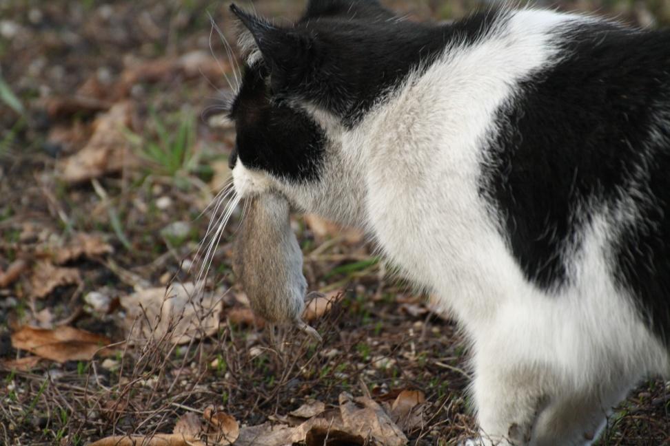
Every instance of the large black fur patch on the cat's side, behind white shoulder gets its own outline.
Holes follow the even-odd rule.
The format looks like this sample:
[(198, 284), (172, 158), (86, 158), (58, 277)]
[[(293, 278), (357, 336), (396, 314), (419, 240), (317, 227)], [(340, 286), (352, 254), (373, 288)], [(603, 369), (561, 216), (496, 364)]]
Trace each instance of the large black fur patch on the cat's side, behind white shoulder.
[[(649, 167), (642, 191), (653, 196), (651, 221), (626, 231), (613, 273), (656, 315), (662, 335), (670, 329), (670, 33), (601, 24), (562, 39), (569, 55), (500, 109), (482, 191), (503, 215), (526, 277), (548, 290), (567, 283), (563, 253), (580, 248), (593, 213), (613, 217)], [(664, 138), (651, 135), (659, 120)]]

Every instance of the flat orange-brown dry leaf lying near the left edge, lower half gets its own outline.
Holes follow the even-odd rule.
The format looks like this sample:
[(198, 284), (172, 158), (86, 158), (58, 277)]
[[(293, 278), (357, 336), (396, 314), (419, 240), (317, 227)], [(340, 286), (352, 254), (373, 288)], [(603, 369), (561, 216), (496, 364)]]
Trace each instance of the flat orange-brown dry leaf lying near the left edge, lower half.
[(12, 347), (60, 363), (90, 361), (94, 354), (110, 354), (110, 349), (102, 348), (110, 343), (99, 334), (65, 326), (53, 330), (23, 326), (12, 333)]

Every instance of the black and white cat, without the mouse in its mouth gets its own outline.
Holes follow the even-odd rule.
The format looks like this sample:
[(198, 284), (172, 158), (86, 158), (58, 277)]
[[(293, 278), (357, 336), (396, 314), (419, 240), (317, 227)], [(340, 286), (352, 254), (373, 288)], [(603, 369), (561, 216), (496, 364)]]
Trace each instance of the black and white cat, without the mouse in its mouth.
[(472, 343), (476, 444), (589, 444), (670, 373), (670, 32), (311, 0), (246, 28), (234, 188), (365, 228)]

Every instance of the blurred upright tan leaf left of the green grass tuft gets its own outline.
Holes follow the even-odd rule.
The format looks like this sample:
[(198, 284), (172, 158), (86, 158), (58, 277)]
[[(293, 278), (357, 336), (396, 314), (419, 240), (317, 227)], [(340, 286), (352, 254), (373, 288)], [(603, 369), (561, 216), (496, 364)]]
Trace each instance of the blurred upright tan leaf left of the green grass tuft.
[(93, 123), (93, 135), (79, 152), (59, 162), (58, 171), (70, 183), (98, 178), (136, 163), (123, 129), (130, 126), (132, 107), (114, 104)]

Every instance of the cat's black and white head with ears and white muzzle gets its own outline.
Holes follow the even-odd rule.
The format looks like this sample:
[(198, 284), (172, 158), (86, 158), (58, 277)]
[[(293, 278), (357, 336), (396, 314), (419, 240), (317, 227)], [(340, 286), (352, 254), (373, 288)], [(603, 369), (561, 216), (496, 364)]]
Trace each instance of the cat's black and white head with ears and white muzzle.
[(243, 197), (278, 189), (301, 206), (298, 190), (323, 183), (342, 134), (392, 84), (397, 67), (418, 57), (400, 44), (417, 24), (376, 0), (310, 0), (300, 20), (281, 26), (231, 10), (244, 57), (230, 108), (235, 189)]

